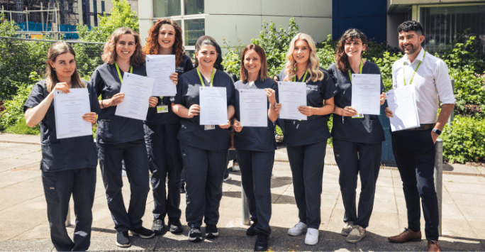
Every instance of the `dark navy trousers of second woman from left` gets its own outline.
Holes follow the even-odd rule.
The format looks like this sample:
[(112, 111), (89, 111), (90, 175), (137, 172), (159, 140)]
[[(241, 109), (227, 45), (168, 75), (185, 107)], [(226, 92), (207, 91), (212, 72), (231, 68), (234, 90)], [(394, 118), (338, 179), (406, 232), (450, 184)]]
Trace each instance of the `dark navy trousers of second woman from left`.
[[(103, 175), (106, 199), (118, 233), (142, 226), (147, 195), (150, 191), (148, 155), (143, 139), (128, 143), (98, 143), (99, 166)], [(121, 160), (125, 160), (126, 175), (130, 182), (128, 212), (123, 203)]]

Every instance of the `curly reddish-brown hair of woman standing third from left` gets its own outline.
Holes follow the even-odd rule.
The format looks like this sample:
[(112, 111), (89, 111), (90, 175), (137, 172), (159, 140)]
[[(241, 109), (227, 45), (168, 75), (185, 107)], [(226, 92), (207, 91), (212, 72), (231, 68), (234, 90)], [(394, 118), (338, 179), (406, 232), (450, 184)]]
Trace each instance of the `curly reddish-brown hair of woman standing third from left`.
[(170, 25), (174, 26), (175, 29), (175, 42), (172, 46), (174, 48), (175, 53), (175, 65), (178, 67), (182, 64), (182, 60), (184, 58), (184, 43), (182, 40), (182, 28), (180, 28), (179, 23), (173, 21), (171, 19), (159, 18), (157, 23), (155, 23), (150, 30), (148, 30), (148, 38), (145, 40), (147, 41), (145, 47), (143, 48), (143, 53), (145, 55), (155, 55), (158, 54), (158, 34), (160, 33), (160, 28), (163, 25)]

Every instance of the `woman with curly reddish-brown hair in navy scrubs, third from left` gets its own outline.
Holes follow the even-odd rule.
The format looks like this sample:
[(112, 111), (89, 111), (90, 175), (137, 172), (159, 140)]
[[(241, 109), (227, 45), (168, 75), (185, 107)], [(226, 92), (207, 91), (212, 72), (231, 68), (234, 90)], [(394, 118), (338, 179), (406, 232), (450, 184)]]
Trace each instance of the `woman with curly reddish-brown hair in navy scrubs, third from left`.
[[(177, 69), (171, 76), (177, 84), (178, 77), (184, 72), (192, 70), (189, 56), (184, 53), (182, 29), (179, 24), (169, 19), (158, 19), (150, 31), (147, 44), (143, 48), (146, 55), (175, 55)], [(177, 90), (180, 92), (180, 89)], [(145, 142), (147, 143), (148, 161), (152, 172), (153, 191), (153, 224), (155, 234), (163, 234), (165, 216), (168, 215), (169, 230), (172, 233), (183, 231), (180, 223), (180, 173), (184, 168), (180, 143), (177, 139), (179, 133), (179, 116), (172, 111), (174, 97), (155, 97), (157, 106), (148, 109), (147, 120), (143, 125), (145, 129)], [(165, 180), (168, 176), (168, 195), (165, 190)]]

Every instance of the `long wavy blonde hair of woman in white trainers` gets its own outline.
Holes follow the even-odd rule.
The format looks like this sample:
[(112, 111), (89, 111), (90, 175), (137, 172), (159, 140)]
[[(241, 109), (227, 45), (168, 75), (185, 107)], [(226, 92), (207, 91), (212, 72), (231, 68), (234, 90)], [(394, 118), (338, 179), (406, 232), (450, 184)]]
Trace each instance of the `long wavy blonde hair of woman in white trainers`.
[(305, 40), (306, 43), (308, 43), (308, 46), (310, 47), (310, 57), (308, 57), (308, 65), (306, 66), (306, 69), (308, 70), (308, 73), (310, 74), (310, 76), (308, 77), (306, 82), (310, 80), (312, 82), (323, 80), (323, 77), (325, 77), (325, 74), (319, 69), (320, 62), (318, 61), (318, 57), (316, 55), (316, 47), (315, 47), (315, 43), (313, 42), (313, 39), (308, 34), (298, 33), (291, 40), (288, 53), (286, 54), (286, 58), (288, 59), (288, 62), (286, 62), (286, 65), (284, 67), (284, 73), (286, 74), (284, 81), (292, 81), (293, 78), (296, 76), (296, 61), (293, 58), (293, 52), (295, 50), (296, 40), (299, 40), (299, 39)]

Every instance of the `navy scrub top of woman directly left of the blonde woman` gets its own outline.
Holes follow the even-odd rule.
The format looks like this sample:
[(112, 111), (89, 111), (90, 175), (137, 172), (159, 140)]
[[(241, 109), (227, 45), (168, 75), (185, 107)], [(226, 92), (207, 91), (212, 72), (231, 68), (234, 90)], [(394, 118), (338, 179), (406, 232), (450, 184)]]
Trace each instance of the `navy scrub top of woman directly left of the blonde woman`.
[[(276, 91), (278, 102), (278, 84), (272, 79), (257, 80), (250, 86), (247, 82), (235, 82), (235, 116), (240, 121), (239, 92), (243, 89), (273, 89)], [(269, 109), (269, 101), (266, 109)], [(243, 127), (241, 132), (234, 133), (234, 146), (238, 150), (274, 151), (277, 149), (276, 139), (274, 138), (274, 124), (268, 120), (266, 127)]]

